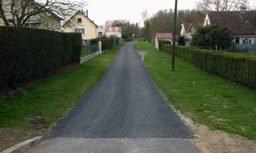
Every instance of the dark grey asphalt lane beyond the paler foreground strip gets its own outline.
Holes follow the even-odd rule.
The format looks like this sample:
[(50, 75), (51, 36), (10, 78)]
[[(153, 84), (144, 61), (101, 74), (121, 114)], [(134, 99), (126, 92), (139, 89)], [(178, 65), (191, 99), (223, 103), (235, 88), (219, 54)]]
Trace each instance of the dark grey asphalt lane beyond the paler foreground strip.
[(52, 129), (52, 138), (188, 138), (190, 130), (159, 93), (136, 42)]

